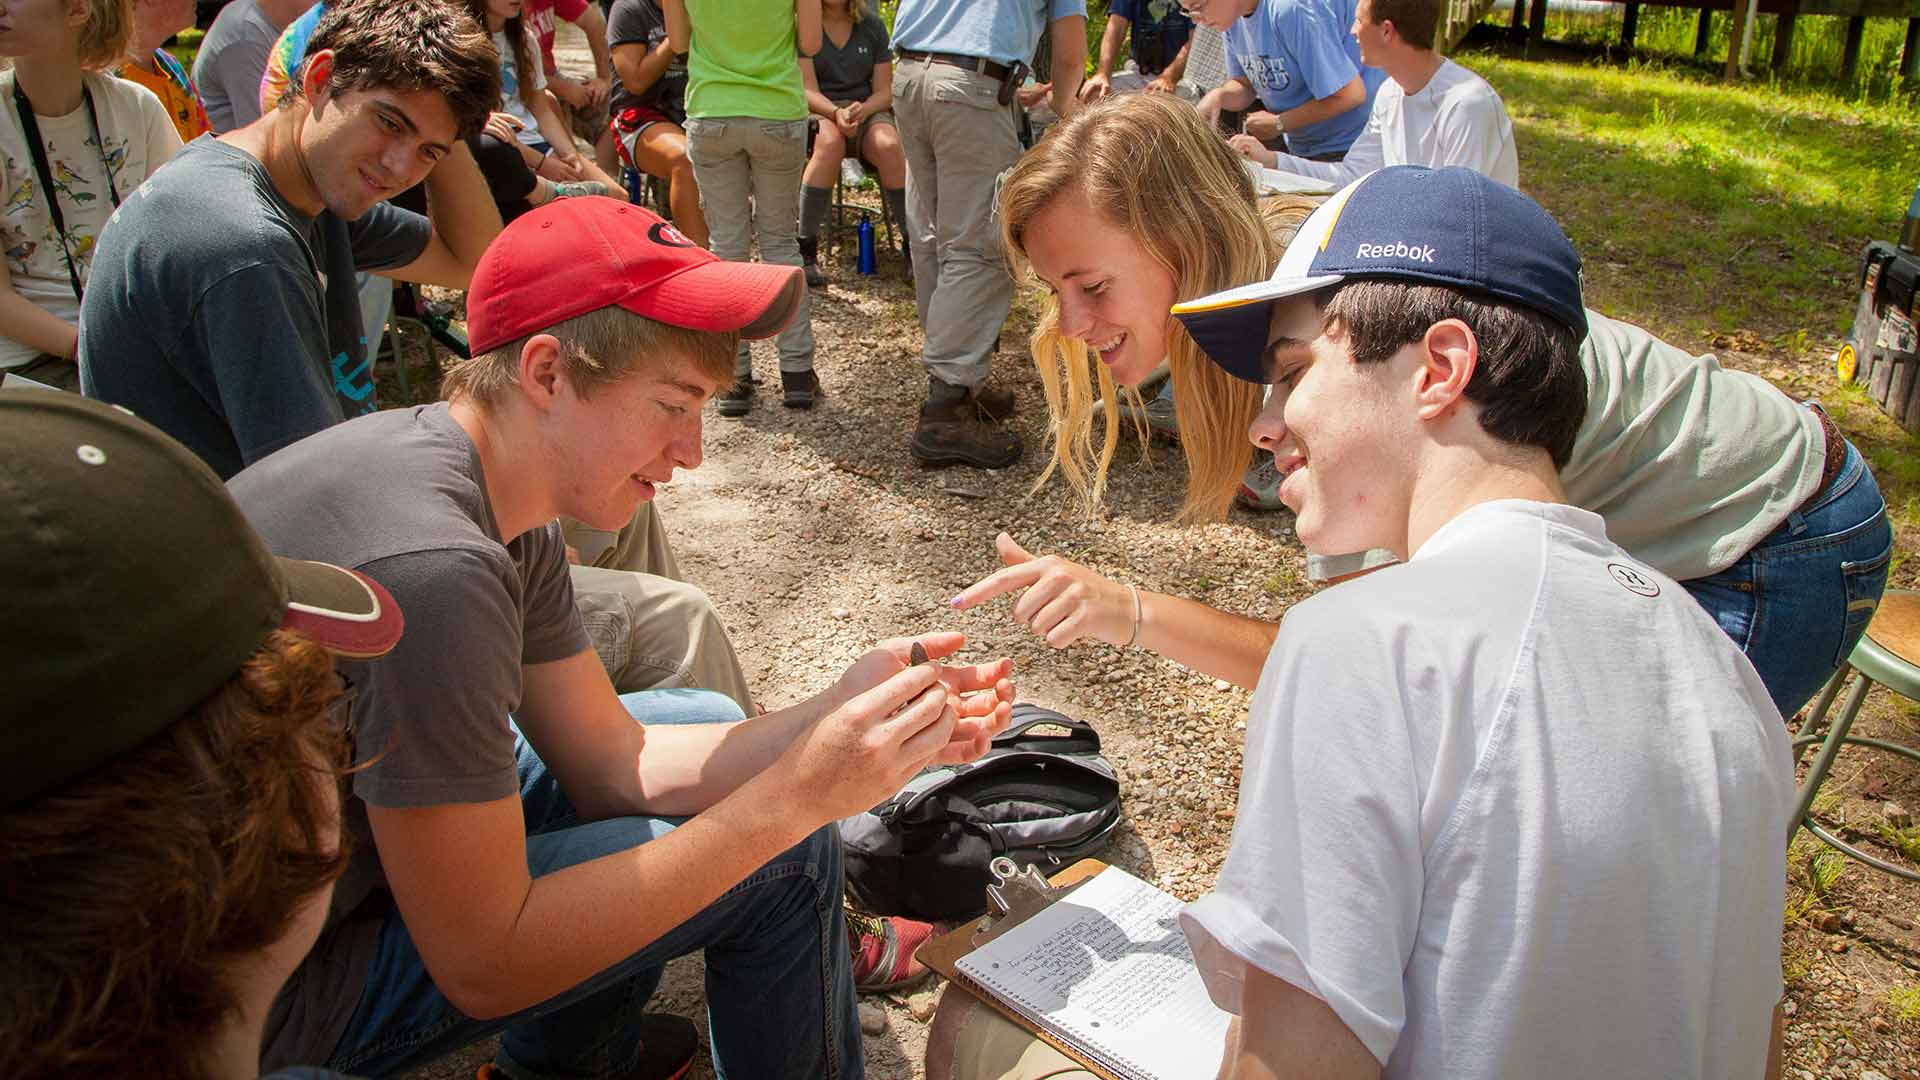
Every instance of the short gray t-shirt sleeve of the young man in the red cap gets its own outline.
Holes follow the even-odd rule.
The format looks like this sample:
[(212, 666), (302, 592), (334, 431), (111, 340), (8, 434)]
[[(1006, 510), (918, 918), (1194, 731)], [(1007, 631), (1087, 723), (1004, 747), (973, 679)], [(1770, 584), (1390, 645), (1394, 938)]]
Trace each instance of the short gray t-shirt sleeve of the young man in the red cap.
[(497, 552), (409, 552), (359, 567), (394, 594), (407, 632), (346, 665), (353, 794), (380, 807), (484, 803), (518, 790), (509, 709), (520, 700), (520, 615)]

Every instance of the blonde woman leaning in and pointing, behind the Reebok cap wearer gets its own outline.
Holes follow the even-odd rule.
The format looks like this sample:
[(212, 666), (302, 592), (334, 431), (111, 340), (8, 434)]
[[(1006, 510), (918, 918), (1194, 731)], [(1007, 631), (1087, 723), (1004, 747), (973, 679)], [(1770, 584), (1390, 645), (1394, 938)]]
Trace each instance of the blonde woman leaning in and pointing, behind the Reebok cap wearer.
[[(1219, 517), (1248, 461), (1263, 388), (1206, 359), (1167, 307), (1260, 282), (1300, 219), (1283, 211), (1263, 223), (1227, 144), (1162, 94), (1102, 102), (1060, 125), (1008, 175), (1000, 215), (1010, 258), (1052, 290), (1033, 336), (1054, 423), (1046, 475), (1060, 469), (1096, 503), (1119, 442), (1119, 386), (1165, 356), (1188, 459), (1183, 517)], [(1261, 306), (1244, 311), (1265, 319)], [(1824, 413), (1764, 379), (1599, 311), (1586, 311), (1586, 419), (1559, 473), (1567, 500), (1605, 517), (1613, 542), (1678, 580), (1791, 717), (1845, 663), (1885, 588), (1893, 534), (1872, 473)], [(1108, 402), (1098, 442), (1096, 386)], [(1275, 386), (1269, 419), (1284, 394)], [(1284, 427), (1273, 438), (1284, 442)], [(1035, 559), (1010, 536), (998, 546), (1008, 567), (954, 598), (956, 607), (1018, 590), (1014, 617), (1054, 648), (1089, 636), (1139, 644), (1240, 686), (1258, 680), (1275, 623)], [(1317, 555), (1308, 565), (1315, 580), (1382, 561), (1373, 552)]]

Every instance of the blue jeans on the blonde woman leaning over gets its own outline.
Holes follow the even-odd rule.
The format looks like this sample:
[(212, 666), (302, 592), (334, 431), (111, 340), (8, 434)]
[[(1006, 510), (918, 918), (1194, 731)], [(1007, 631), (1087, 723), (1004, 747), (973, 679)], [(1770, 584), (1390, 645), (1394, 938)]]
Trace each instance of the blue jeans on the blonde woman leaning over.
[(1680, 582), (1766, 682), (1791, 717), (1834, 676), (1874, 619), (1893, 528), (1880, 484), (1847, 444), (1839, 475), (1788, 515), (1738, 563)]

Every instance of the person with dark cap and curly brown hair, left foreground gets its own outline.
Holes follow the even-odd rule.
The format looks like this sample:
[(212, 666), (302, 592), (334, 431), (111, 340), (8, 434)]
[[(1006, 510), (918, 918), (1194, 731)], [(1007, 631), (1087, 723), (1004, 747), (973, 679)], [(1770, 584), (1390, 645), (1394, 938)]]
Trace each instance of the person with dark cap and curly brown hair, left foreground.
[(0, 1074), (253, 1080), (349, 855), (328, 653), (380, 655), (399, 607), (269, 555), (121, 409), (0, 390)]

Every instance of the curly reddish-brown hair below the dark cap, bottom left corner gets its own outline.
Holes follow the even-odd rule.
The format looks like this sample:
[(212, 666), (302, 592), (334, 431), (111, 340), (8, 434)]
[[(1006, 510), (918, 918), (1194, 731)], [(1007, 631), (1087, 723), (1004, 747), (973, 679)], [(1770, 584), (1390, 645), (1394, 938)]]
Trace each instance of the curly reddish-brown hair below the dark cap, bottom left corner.
[(205, 1076), (232, 965), (346, 869), (340, 698), (275, 630), (165, 732), (0, 811), (0, 1076)]

